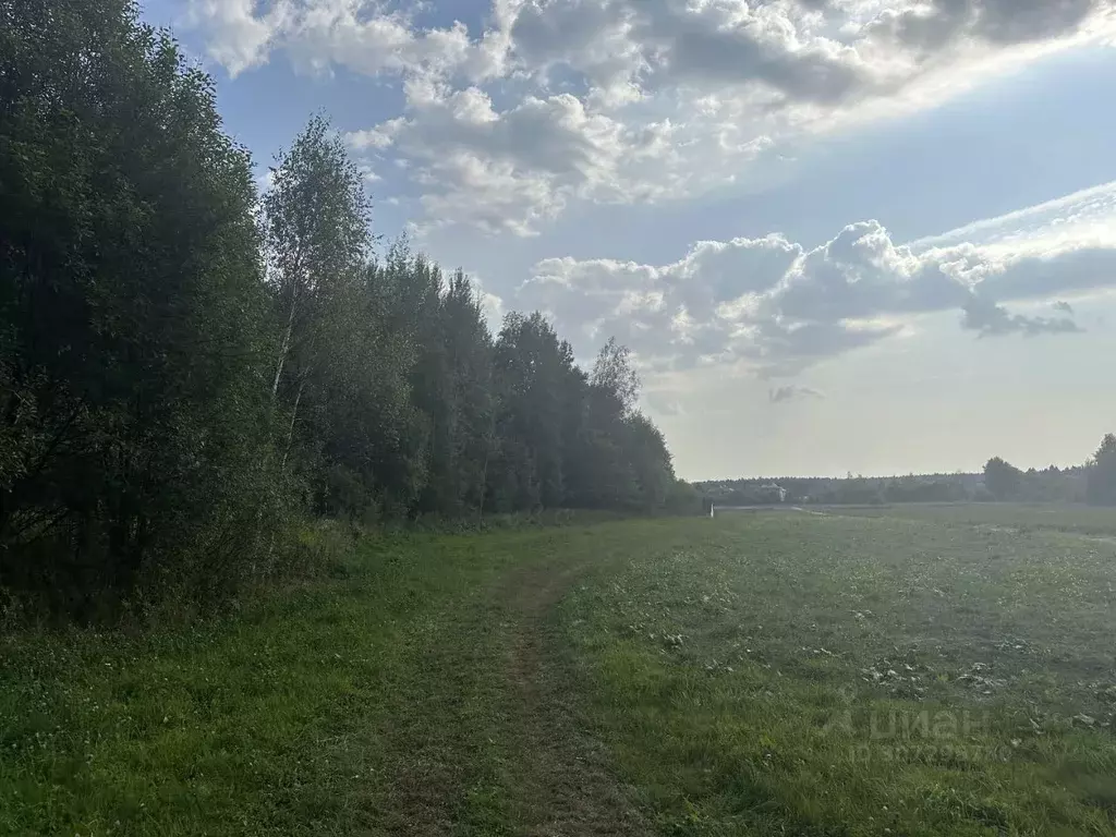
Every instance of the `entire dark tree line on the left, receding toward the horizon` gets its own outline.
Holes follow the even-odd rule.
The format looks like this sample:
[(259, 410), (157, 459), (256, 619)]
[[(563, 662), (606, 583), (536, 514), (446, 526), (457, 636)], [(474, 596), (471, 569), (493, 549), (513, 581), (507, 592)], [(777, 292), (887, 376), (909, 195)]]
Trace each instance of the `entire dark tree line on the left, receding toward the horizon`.
[(214, 96), (131, 0), (0, 0), (0, 593), (220, 597), (314, 516), (696, 503), (627, 349), (381, 252), (323, 117), (260, 195)]

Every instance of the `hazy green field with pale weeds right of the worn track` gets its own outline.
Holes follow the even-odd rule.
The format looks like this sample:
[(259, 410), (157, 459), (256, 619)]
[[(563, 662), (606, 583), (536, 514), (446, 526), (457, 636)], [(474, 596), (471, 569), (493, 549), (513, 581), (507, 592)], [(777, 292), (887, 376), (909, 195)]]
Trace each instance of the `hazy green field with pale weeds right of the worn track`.
[(724, 514), (564, 604), (664, 834), (1114, 834), (1116, 547)]

